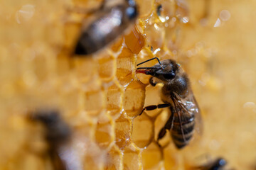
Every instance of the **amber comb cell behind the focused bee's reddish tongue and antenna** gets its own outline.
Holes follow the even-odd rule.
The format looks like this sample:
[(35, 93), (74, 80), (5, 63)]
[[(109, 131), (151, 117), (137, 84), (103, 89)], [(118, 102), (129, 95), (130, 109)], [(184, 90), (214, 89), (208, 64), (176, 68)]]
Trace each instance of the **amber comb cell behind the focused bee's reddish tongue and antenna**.
[[(154, 58), (153, 53), (150, 50), (150, 47), (144, 47), (140, 52), (139, 55), (137, 55), (137, 61), (136, 64), (139, 64), (141, 62), (144, 62), (146, 60), (149, 60), (151, 58)], [(156, 64), (157, 60), (151, 60), (149, 62), (146, 62), (142, 65), (139, 65), (137, 67), (152, 67), (154, 64)], [(136, 77), (138, 77), (139, 81), (142, 81), (143, 84), (149, 84), (149, 75), (146, 74), (136, 74)]]

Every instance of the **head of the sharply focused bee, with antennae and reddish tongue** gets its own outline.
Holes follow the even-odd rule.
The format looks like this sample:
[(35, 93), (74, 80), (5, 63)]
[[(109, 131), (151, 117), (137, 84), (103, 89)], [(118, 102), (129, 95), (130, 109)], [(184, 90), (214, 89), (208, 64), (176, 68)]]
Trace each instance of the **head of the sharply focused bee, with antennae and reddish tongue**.
[[(158, 58), (153, 58), (154, 60)], [(148, 62), (150, 60), (146, 60)], [(139, 63), (137, 65), (143, 64)], [(159, 63), (155, 64), (153, 67), (139, 67), (136, 70), (136, 73), (148, 74), (157, 79), (161, 79), (162, 81), (171, 81), (176, 77), (176, 74), (180, 68), (180, 64), (176, 63), (174, 60), (163, 60), (159, 61)]]

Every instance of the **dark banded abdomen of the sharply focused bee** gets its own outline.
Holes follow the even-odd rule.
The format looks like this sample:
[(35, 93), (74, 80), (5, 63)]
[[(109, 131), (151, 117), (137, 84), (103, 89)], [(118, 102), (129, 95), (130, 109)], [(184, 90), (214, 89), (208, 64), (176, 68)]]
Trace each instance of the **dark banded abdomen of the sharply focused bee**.
[(171, 128), (171, 137), (178, 149), (188, 145), (193, 136), (195, 126), (194, 115), (180, 113), (180, 118), (178, 113), (174, 113), (174, 122)]

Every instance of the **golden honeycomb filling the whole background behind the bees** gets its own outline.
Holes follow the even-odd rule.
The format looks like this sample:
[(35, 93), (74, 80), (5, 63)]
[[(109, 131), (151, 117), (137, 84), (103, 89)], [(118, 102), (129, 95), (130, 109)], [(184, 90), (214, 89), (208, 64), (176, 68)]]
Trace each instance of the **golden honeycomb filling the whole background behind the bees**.
[[(60, 111), (83, 169), (190, 169), (216, 157), (256, 169), (256, 2), (137, 0), (136, 26), (95, 55), (72, 57), (89, 22), (73, 8), (101, 2), (1, 0), (0, 169), (53, 169), (43, 127), (28, 121), (36, 108)], [(177, 60), (191, 79), (203, 135), (185, 149), (169, 133), (156, 143), (168, 111), (137, 116), (161, 103), (161, 87), (134, 73), (151, 57)]]

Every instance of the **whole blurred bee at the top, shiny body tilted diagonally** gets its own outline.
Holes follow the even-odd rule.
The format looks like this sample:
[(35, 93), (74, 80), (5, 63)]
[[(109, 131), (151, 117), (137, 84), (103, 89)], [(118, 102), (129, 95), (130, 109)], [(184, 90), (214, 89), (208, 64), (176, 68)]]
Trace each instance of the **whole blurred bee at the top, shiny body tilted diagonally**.
[(95, 20), (81, 30), (75, 55), (91, 55), (110, 44), (134, 24), (138, 10), (134, 0), (106, 0)]

